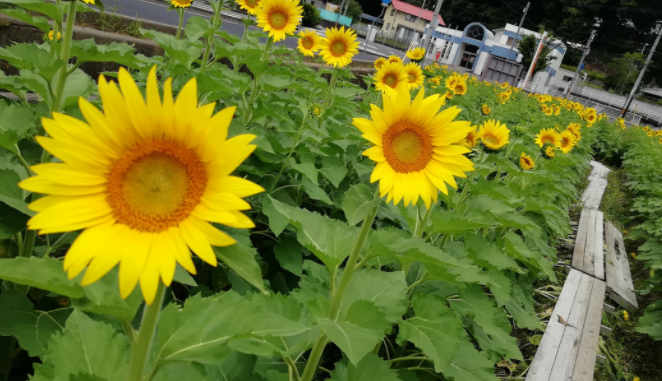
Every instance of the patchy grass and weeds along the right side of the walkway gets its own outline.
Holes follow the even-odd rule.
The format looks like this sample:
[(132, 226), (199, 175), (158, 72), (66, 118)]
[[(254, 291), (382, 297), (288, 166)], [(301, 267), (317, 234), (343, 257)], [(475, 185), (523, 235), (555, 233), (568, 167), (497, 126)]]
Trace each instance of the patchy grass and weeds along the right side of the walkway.
[[(607, 189), (602, 198), (600, 210), (605, 220), (611, 221), (621, 231), (626, 232), (636, 222), (630, 218), (632, 194), (624, 183), (626, 175), (618, 168), (612, 168), (607, 177)], [(624, 234), (627, 236), (627, 234)], [(641, 242), (625, 241), (628, 252), (636, 252)], [(630, 258), (630, 270), (635, 290), (645, 287), (649, 270), (642, 261)], [(650, 336), (635, 331), (643, 309), (655, 300), (653, 295), (637, 295), (639, 310), (629, 313), (626, 321), (623, 310), (618, 308), (614, 314), (603, 312), (602, 324), (613, 332), (608, 338), (600, 338), (600, 353), (606, 357), (604, 365), (596, 367), (596, 381), (632, 381), (639, 377), (643, 381), (662, 381), (662, 342), (654, 341)], [(607, 303), (617, 306), (616, 303)]]

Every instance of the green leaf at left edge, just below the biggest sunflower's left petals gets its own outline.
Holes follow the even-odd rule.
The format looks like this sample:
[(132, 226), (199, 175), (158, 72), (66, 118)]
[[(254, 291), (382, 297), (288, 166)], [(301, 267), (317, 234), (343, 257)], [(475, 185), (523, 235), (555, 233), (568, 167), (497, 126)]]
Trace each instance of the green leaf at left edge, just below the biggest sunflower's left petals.
[(53, 258), (0, 259), (0, 279), (37, 287), (70, 298), (85, 296), (83, 288), (69, 280), (62, 269), (62, 262)]

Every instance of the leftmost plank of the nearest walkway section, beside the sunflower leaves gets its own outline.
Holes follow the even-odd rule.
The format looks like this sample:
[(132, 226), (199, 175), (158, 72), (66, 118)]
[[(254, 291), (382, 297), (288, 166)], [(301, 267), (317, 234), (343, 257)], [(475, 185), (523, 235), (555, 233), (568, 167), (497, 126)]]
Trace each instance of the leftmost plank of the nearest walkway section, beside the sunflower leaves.
[(527, 381), (547, 381), (552, 372), (554, 361), (558, 353), (563, 332), (566, 326), (559, 322), (558, 316), (567, 321), (570, 317), (570, 310), (573, 301), (577, 295), (579, 281), (582, 273), (577, 270), (570, 270), (570, 274), (563, 284), (559, 299), (554, 306), (554, 312), (549, 319), (545, 334), (540, 341), (536, 354), (531, 362), (531, 367), (527, 373)]

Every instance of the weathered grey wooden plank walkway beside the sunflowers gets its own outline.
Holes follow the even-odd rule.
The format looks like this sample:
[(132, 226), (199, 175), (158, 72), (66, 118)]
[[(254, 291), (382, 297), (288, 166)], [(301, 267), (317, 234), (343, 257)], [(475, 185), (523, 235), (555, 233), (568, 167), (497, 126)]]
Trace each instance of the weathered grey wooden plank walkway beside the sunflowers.
[(593, 380), (599, 335), (610, 333), (600, 324), (605, 292), (623, 308), (637, 308), (623, 236), (598, 210), (610, 170), (596, 161), (591, 166), (572, 267), (526, 381)]

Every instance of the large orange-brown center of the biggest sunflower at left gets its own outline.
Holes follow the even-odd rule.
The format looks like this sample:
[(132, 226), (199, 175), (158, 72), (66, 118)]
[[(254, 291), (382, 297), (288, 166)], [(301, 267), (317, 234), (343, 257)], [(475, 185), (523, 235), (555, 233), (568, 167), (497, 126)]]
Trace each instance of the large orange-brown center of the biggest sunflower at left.
[(182, 143), (155, 140), (125, 152), (108, 175), (108, 204), (122, 224), (143, 232), (177, 226), (200, 203), (207, 172)]

